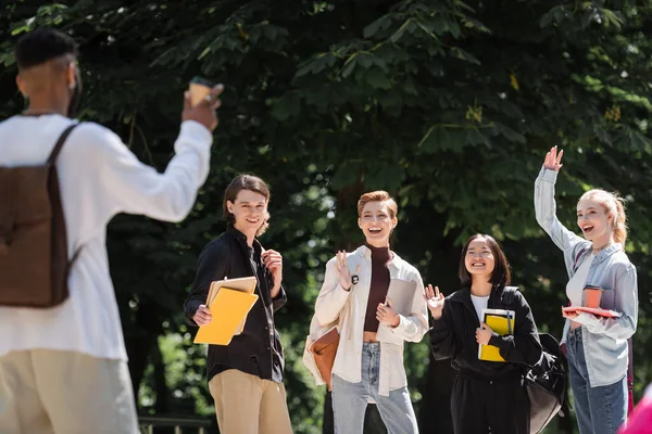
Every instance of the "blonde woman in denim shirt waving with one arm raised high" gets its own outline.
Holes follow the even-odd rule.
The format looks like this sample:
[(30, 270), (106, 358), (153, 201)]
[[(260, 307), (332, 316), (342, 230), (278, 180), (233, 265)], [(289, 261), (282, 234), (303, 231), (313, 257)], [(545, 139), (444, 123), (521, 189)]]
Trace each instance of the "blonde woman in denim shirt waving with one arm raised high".
[(604, 190), (590, 190), (577, 203), (577, 226), (584, 238), (556, 218), (554, 183), (563, 151), (546, 155), (535, 184), (537, 221), (564, 253), (572, 306), (585, 305), (588, 286), (601, 290), (600, 308), (619, 317), (564, 311), (562, 343), (566, 344), (570, 387), (581, 434), (612, 434), (627, 418), (627, 340), (636, 331), (638, 286), (636, 267), (624, 246), (627, 239), (622, 200)]

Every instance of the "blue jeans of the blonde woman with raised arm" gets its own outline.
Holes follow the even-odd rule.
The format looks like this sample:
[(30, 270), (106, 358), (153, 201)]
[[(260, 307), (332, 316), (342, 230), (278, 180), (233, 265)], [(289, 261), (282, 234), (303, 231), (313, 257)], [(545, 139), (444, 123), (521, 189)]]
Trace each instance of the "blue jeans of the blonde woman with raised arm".
[(579, 432), (615, 434), (627, 418), (627, 376), (606, 386), (591, 387), (581, 327), (568, 332), (566, 349)]

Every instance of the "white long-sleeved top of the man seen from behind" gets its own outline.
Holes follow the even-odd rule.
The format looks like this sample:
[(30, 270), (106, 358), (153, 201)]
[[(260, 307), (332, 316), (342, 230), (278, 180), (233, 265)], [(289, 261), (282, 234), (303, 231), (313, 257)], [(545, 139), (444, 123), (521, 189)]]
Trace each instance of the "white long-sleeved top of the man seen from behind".
[[(14, 116), (0, 123), (0, 166), (43, 164), (74, 120)], [(209, 174), (211, 132), (187, 120), (164, 174), (147, 166), (111, 130), (84, 123), (59, 158), (68, 256), (83, 246), (68, 277), (70, 297), (51, 309), (0, 307), (0, 357), (12, 350), (59, 349), (127, 360), (109, 273), (106, 225), (118, 213), (179, 221)]]

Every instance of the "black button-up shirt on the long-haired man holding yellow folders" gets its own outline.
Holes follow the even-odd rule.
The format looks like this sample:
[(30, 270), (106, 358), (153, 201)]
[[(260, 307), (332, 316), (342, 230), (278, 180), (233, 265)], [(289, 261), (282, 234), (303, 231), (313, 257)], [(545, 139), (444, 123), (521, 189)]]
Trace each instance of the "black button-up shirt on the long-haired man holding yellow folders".
[(227, 231), (206, 244), (199, 256), (197, 276), (184, 305), (191, 326), (197, 327), (192, 317), (199, 305), (205, 304), (211, 282), (224, 278), (258, 278), (255, 294), (259, 299), (249, 311), (242, 333), (234, 336), (227, 346), (209, 345), (209, 381), (229, 368), (263, 380), (283, 381), (283, 346), (274, 327), (274, 312), (285, 305), (287, 296), (281, 288), (272, 299), (269, 292), (274, 281), (269, 270), (262, 266), (261, 251), (261, 244), (254, 241), (251, 252), (244, 234), (229, 225)]

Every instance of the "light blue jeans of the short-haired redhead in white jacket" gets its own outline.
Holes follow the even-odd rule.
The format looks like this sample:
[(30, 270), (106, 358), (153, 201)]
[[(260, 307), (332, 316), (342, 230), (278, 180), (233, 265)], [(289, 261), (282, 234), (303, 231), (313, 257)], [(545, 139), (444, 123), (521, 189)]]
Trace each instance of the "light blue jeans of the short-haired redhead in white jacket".
[(362, 434), (369, 398), (376, 403), (389, 434), (418, 434), (408, 387), (390, 391), (389, 396), (378, 394), (379, 362), (380, 344), (365, 342), (362, 346), (362, 381), (349, 383), (333, 375), (335, 434)]

